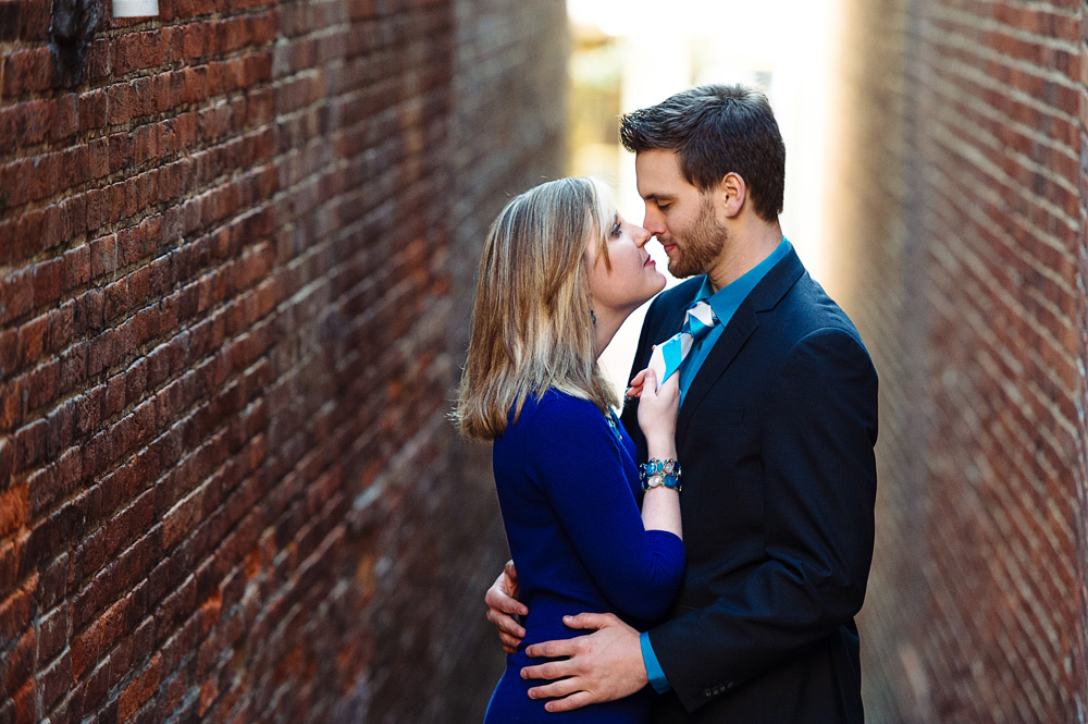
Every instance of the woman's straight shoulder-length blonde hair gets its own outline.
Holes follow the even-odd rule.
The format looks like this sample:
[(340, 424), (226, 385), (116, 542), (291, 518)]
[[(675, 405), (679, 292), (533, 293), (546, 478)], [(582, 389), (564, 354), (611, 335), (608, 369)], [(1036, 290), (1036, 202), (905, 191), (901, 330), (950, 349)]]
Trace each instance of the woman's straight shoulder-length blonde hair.
[(616, 395), (596, 363), (585, 253), (608, 265), (611, 194), (595, 179), (559, 179), (515, 197), (484, 244), (472, 336), (454, 419), (494, 440), (527, 397), (549, 388), (601, 408)]

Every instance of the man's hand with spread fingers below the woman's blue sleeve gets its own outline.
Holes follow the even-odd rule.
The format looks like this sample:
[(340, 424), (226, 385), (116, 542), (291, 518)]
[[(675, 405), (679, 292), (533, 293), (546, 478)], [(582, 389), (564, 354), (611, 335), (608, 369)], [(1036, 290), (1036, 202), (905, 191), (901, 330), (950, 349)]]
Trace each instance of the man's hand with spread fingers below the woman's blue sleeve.
[(569, 656), (565, 661), (549, 661), (521, 670), (521, 678), (561, 679), (529, 689), (530, 699), (561, 697), (544, 708), (553, 712), (570, 711), (621, 699), (650, 682), (642, 662), (639, 631), (615, 614), (581, 613), (564, 616), (562, 623), (569, 628), (597, 630), (565, 641), (533, 643), (526, 649), (526, 653), (534, 658)]

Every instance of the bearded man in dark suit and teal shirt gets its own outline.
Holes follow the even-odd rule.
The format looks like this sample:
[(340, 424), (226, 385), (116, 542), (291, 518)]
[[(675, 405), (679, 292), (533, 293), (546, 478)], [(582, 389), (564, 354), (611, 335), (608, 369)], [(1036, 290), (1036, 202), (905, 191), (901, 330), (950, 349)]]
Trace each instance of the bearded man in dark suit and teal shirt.
[[(652, 304), (633, 369), (694, 302), (717, 320), (679, 371), (688, 564), (666, 623), (640, 634), (583, 613), (565, 623), (594, 633), (529, 647), (552, 660), (522, 670), (549, 680), (530, 696), (567, 711), (648, 682), (658, 722), (862, 722), (853, 616), (873, 553), (877, 376), (782, 236), (778, 124), (762, 93), (705, 86), (626, 115), (621, 135), (643, 225), (673, 275), (695, 275)], [(636, 412), (623, 422), (645, 459)], [(516, 584), (508, 566), (486, 599), (506, 648), (523, 635)]]

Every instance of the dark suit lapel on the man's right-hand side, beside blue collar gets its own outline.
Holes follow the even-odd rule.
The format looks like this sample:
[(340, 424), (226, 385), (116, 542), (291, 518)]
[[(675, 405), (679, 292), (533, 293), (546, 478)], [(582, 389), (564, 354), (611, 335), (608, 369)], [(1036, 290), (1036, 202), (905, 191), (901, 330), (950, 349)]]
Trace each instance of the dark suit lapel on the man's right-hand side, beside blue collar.
[(804, 272), (804, 265), (801, 263), (796, 251), (790, 249), (790, 253), (767, 272), (767, 275), (756, 284), (747, 298), (738, 307), (732, 319), (726, 324), (726, 329), (721, 331), (721, 336), (714, 343), (714, 347), (703, 360), (703, 365), (695, 373), (695, 379), (691, 381), (691, 386), (688, 388), (683, 405), (680, 406), (680, 415), (677, 418), (678, 442), (687, 435), (691, 417), (700, 402), (726, 371), (726, 368), (732, 364), (741, 347), (759, 326), (756, 312), (772, 309)]

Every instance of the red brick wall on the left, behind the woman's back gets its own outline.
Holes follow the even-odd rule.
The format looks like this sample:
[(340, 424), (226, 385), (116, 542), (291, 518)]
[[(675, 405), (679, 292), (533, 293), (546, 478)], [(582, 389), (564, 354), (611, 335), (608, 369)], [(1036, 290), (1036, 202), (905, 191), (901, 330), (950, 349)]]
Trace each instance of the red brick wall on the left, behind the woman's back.
[[(0, 722), (462, 722), (502, 666), (446, 421), (561, 2), (0, 2)], [(10, 21), (10, 22), (9, 22)]]

